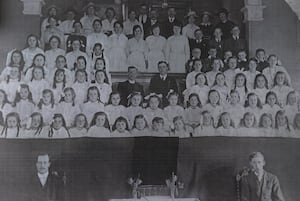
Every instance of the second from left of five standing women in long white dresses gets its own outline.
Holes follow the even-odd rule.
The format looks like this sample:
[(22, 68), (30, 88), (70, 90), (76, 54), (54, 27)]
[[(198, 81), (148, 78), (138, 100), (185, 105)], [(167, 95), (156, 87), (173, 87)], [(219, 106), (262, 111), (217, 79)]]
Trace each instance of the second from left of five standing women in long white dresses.
[(127, 62), (126, 45), (128, 39), (123, 33), (123, 24), (120, 21), (114, 23), (114, 31), (115, 33), (109, 37), (109, 64), (111, 71), (126, 71), (124, 67)]

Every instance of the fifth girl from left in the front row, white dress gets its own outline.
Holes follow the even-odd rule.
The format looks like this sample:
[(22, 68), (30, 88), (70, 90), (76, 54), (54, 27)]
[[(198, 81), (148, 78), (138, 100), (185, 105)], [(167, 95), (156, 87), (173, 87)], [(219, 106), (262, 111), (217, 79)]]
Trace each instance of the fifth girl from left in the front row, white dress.
[(91, 126), (88, 130), (89, 137), (111, 137), (109, 122), (105, 112), (94, 114)]

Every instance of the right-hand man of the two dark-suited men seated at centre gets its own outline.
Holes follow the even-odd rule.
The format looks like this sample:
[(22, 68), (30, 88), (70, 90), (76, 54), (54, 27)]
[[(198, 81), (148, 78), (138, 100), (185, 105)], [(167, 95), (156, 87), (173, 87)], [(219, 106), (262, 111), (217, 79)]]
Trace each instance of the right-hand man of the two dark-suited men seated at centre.
[(171, 89), (178, 92), (176, 80), (168, 76), (169, 64), (165, 61), (158, 62), (158, 75), (151, 78), (149, 91), (150, 93), (162, 94), (163, 106), (168, 105), (167, 95)]

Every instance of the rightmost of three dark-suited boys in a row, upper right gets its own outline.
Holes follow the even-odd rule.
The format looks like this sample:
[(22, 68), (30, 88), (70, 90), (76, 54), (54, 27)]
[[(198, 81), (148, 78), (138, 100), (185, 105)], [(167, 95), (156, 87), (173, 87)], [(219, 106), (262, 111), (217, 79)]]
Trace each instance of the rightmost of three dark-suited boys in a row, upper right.
[(240, 37), (240, 28), (234, 26), (231, 30), (231, 37), (225, 41), (224, 49), (230, 50), (234, 56), (237, 56), (239, 50), (247, 50), (247, 42)]

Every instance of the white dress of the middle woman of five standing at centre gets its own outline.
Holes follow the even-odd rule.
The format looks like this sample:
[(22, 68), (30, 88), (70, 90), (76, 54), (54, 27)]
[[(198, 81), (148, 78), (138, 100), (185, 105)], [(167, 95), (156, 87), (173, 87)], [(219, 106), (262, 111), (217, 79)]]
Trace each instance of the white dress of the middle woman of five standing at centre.
[(127, 65), (135, 66), (140, 71), (146, 70), (146, 60), (148, 59), (148, 46), (145, 40), (131, 38), (127, 42)]

